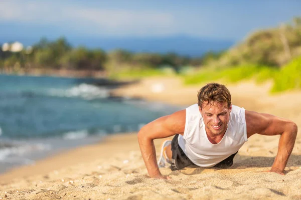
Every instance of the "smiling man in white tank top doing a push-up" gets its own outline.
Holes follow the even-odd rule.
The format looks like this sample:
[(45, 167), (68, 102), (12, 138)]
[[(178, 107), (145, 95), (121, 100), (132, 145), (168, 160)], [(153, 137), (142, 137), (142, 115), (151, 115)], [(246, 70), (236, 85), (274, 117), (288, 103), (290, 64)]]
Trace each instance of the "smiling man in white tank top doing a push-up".
[[(169, 176), (161, 174), (158, 164), (163, 167), (169, 162), (172, 170), (189, 165), (228, 167), (238, 149), (255, 133), (281, 135), (269, 171), (284, 175), (297, 134), (296, 124), (232, 105), (225, 85), (209, 83), (198, 92), (197, 104), (144, 125), (138, 132), (138, 141), (149, 176), (168, 179)], [(153, 140), (172, 135), (172, 141), (163, 143), (157, 164)]]

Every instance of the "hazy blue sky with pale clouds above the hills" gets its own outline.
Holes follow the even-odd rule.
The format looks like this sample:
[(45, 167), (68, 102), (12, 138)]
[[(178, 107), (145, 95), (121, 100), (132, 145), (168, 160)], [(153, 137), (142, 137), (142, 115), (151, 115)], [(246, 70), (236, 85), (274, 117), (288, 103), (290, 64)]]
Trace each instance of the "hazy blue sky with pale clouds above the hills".
[(61, 35), (239, 41), (293, 16), (301, 16), (301, 0), (1, 0), (0, 43)]

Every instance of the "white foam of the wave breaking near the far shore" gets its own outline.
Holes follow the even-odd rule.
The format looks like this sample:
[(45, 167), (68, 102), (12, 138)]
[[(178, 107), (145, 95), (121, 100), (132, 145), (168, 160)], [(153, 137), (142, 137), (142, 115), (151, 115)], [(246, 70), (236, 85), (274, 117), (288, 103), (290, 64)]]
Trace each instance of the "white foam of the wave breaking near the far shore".
[(82, 97), (87, 100), (96, 98), (106, 98), (109, 96), (109, 90), (104, 87), (98, 87), (91, 84), (82, 83), (69, 89), (51, 88), (49, 94), (62, 97)]

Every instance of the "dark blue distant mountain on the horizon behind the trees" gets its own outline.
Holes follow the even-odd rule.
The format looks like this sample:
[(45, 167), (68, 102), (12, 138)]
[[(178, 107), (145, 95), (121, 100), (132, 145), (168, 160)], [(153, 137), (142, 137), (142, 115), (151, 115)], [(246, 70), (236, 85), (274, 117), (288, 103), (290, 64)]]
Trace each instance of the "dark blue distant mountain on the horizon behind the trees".
[[(83, 45), (88, 48), (102, 48), (106, 51), (110, 51), (116, 48), (122, 48), (133, 52), (175, 52), (181, 55), (188, 55), (193, 57), (201, 56), (208, 51), (224, 50), (234, 44), (234, 41), (231, 40), (191, 37), (183, 35), (124, 38), (68, 36), (66, 38), (73, 46)], [(15, 40), (19, 40), (25, 45), (32, 45), (39, 39), (20, 37), (16, 38)], [(0, 43), (7, 41), (14, 41), (14, 39), (5, 39), (0, 37)]]

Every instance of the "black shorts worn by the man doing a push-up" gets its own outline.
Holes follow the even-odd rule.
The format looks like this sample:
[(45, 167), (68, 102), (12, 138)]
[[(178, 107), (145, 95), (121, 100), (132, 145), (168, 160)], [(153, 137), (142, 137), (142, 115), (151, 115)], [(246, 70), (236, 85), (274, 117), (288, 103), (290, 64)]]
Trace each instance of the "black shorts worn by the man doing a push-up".
[[(194, 164), (186, 156), (186, 154), (184, 153), (184, 151), (182, 150), (182, 148), (179, 146), (178, 136), (179, 136), (179, 134), (176, 134), (174, 136), (173, 140), (172, 140), (172, 152), (173, 152), (172, 158), (173, 158), (173, 160), (172, 160), (171, 169), (174, 171), (174, 170), (183, 169), (183, 168), (185, 168), (187, 166), (198, 166), (198, 165)], [(236, 155), (236, 153), (230, 155), (229, 157), (227, 157), (223, 161), (217, 163), (216, 165), (214, 165), (214, 167), (227, 168), (229, 166), (232, 166), (232, 164), (233, 164), (233, 158)]]

